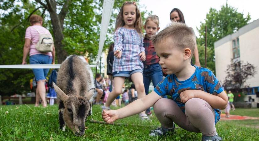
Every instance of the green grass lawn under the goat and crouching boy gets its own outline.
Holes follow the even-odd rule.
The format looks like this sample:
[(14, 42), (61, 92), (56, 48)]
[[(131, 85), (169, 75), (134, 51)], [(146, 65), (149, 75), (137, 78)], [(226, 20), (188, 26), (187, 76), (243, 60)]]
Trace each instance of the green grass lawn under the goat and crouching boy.
[[(94, 113), (101, 111), (100, 106), (94, 105)], [(236, 113), (259, 112), (259, 109), (237, 109)], [(8, 114), (6, 114), (8, 111)], [(94, 114), (93, 113), (93, 114)], [(230, 112), (234, 114), (234, 112)], [(258, 117), (258, 114), (257, 114)], [(101, 120), (101, 114), (93, 117)], [(142, 122), (138, 115), (116, 121), (117, 123), (137, 124), (137, 126), (114, 126), (97, 123), (86, 123), (88, 129), (82, 137), (75, 136), (66, 128), (65, 132), (59, 129), (57, 105), (47, 108), (34, 105), (0, 106), (0, 140), (175, 140), (200, 141), (201, 133), (192, 133), (176, 128), (174, 135), (152, 138), (149, 131), (159, 127), (159, 121), (154, 116), (152, 122)], [(139, 126), (138, 126), (139, 125)], [(144, 126), (140, 126), (144, 125)], [(216, 128), (224, 141), (257, 141), (259, 140), (259, 120), (220, 121)]]

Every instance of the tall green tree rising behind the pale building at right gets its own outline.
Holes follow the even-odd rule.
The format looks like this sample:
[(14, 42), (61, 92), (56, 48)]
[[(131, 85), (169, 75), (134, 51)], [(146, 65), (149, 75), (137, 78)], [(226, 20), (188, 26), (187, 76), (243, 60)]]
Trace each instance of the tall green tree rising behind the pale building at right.
[[(208, 52), (207, 54), (207, 66), (212, 69), (214, 73), (214, 42), (228, 34), (238, 31), (241, 27), (248, 24), (250, 19), (249, 13), (246, 18), (244, 18), (243, 13), (239, 13), (236, 8), (227, 3), (221, 6), (219, 11), (210, 8), (209, 13), (206, 14), (205, 22), (201, 23), (200, 27), (197, 28), (200, 36), (197, 39), (197, 44), (205, 44), (205, 25), (207, 25), (207, 47), (208, 50), (210, 50), (210, 53)], [(200, 55), (200, 58), (204, 58), (204, 56)]]

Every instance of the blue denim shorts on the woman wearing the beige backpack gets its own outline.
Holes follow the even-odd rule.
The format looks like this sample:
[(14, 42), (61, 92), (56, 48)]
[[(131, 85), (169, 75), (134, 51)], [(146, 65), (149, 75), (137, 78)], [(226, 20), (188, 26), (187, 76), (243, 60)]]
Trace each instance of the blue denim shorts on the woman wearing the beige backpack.
[[(30, 56), (30, 64), (51, 64), (52, 56), (36, 54)], [(50, 69), (32, 69), (36, 81), (45, 80)]]

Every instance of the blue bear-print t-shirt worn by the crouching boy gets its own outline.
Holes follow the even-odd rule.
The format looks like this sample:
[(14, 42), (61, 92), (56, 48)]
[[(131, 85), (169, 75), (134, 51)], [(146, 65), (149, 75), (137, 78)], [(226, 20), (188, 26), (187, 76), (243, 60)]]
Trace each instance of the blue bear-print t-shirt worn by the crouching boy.
[[(193, 65), (195, 66), (195, 65)], [(224, 91), (224, 87), (220, 85), (218, 79), (215, 77), (212, 71), (195, 66), (196, 70), (194, 74), (185, 81), (178, 81), (175, 74), (168, 75), (162, 80), (155, 88), (154, 91), (161, 97), (170, 95), (172, 99), (184, 112), (185, 103), (181, 102), (180, 94), (185, 90), (202, 90), (213, 95), (217, 95)], [(215, 112), (215, 124), (220, 119), (220, 110), (214, 109)]]

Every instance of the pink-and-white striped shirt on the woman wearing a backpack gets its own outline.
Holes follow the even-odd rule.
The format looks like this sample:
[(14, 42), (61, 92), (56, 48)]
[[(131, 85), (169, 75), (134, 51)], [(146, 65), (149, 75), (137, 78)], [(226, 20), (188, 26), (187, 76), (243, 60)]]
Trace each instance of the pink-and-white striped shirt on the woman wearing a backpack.
[(46, 29), (45, 27), (42, 27), (40, 25), (29, 26), (26, 29), (25, 39), (30, 39), (31, 40), (31, 43), (30, 43), (30, 56), (31, 55), (36, 55), (36, 54), (45, 54), (45, 55), (52, 56), (51, 52), (42, 53), (42, 52), (36, 50), (35, 45), (39, 42), (39, 38), (40, 38), (40, 34), (38, 33), (38, 31), (36, 29), (41, 34), (44, 34), (44, 33), (50, 34), (48, 29)]

